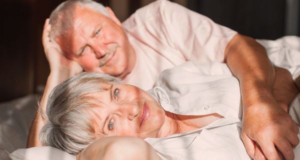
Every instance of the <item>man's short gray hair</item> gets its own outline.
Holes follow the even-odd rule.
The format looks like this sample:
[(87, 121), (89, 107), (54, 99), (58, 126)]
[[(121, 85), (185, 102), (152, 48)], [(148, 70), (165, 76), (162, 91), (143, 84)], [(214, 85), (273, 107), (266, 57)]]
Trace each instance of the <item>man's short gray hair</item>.
[(55, 47), (65, 56), (68, 54), (64, 53), (60, 46), (57, 44), (55, 38), (60, 35), (64, 38), (68, 35), (70, 29), (74, 25), (74, 10), (76, 6), (87, 7), (96, 12), (99, 12), (107, 17), (109, 14), (106, 8), (98, 2), (93, 0), (66, 0), (60, 3), (50, 14), (49, 24), (51, 24), (51, 30), (49, 33), (50, 40), (53, 42)]

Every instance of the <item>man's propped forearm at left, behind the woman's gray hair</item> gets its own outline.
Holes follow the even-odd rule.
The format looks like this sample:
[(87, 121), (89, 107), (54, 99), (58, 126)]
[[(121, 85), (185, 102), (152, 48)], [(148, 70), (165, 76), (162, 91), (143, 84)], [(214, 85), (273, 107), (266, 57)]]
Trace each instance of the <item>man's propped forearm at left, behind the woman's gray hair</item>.
[(44, 125), (44, 119), (41, 116), (39, 111), (45, 112), (48, 96), (51, 90), (58, 85), (63, 80), (67, 79), (70, 76), (68, 71), (52, 71), (47, 79), (45, 90), (39, 102), (38, 109), (36, 110), (35, 117), (31, 122), (31, 126), (29, 129), (28, 137), (27, 137), (27, 147), (33, 146), (41, 146), (41, 143), (38, 139), (38, 134), (41, 127)]

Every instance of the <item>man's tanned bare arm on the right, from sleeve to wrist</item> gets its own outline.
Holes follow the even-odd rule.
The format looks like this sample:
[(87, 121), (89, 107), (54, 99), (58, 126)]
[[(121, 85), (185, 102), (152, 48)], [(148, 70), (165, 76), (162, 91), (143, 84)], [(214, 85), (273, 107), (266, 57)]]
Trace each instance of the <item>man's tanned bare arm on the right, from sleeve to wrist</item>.
[(225, 61), (240, 82), (243, 104), (246, 104), (243, 107), (274, 99), (275, 71), (265, 48), (254, 39), (235, 35), (226, 47)]

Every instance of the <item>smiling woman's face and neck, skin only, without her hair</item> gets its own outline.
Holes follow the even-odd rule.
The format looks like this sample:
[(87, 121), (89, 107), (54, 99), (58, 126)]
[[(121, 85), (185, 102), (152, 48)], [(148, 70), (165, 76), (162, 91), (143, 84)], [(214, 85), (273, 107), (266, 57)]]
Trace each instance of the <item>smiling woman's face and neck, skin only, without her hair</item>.
[(146, 91), (129, 84), (101, 84), (106, 91), (92, 93), (98, 107), (90, 115), (96, 135), (165, 137), (174, 133), (203, 127), (222, 117), (207, 115), (178, 115), (165, 111)]

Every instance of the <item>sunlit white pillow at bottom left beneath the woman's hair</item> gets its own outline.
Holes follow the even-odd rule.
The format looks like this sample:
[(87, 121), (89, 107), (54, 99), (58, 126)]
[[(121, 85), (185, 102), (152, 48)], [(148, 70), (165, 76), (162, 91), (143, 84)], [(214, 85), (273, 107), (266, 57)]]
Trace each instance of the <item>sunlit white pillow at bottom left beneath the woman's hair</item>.
[(17, 149), (9, 154), (12, 160), (76, 160), (75, 155), (61, 151), (51, 146), (39, 146)]

